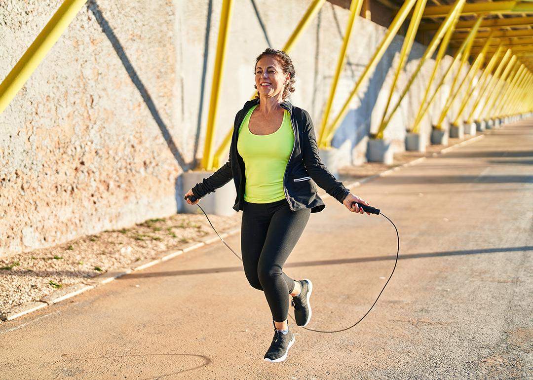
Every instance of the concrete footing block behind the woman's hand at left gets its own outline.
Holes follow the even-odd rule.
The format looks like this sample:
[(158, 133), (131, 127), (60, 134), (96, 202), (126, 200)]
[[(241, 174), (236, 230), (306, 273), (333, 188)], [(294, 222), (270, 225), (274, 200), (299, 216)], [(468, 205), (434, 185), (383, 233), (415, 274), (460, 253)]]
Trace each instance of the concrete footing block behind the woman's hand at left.
[[(201, 182), (204, 178), (207, 178), (214, 172), (207, 171), (189, 171), (183, 173), (182, 184), (183, 194), (192, 189), (197, 183)], [(235, 192), (235, 184), (233, 180), (225, 184), (223, 187), (216, 189), (216, 191), (206, 195), (200, 200), (199, 205), (207, 214), (231, 216), (235, 215), (233, 205), (235, 204), (235, 198), (237, 194)], [(200, 209), (194, 205), (189, 205), (184, 199), (183, 195), (180, 197), (183, 202), (183, 212), (186, 214), (201, 213)]]

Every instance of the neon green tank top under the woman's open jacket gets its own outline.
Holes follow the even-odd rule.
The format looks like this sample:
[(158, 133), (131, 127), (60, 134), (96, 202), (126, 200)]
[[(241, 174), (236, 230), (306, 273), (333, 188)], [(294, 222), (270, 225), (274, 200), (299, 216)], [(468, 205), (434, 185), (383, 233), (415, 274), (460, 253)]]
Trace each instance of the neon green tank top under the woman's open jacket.
[(285, 110), (281, 126), (276, 132), (253, 134), (248, 122), (256, 107), (246, 114), (239, 127), (237, 141), (237, 151), (243, 157), (245, 166), (244, 200), (248, 203), (271, 203), (285, 198), (283, 177), (294, 147), (294, 132), (289, 111)]

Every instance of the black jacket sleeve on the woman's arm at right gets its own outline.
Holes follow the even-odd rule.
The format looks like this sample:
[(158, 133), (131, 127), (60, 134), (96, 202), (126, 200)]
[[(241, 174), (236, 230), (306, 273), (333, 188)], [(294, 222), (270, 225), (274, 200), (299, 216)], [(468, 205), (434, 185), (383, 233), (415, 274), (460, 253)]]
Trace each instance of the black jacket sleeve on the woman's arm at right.
[(337, 181), (320, 160), (313, 122), (305, 110), (302, 110), (302, 132), (302, 156), (305, 168), (319, 187), (342, 203), (350, 190), (345, 188), (342, 182)]

